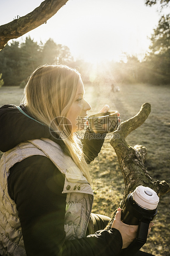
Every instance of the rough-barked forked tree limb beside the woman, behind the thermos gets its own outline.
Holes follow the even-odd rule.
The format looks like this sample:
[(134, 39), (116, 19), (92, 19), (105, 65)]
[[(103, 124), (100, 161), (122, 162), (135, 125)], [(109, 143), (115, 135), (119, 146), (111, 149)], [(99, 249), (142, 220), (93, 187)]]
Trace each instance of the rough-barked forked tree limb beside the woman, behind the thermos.
[[(165, 180), (161, 182), (158, 180), (154, 181), (147, 172), (144, 166), (147, 149), (141, 145), (130, 147), (125, 141), (125, 138), (129, 133), (144, 123), (149, 116), (150, 111), (151, 105), (149, 103), (144, 103), (137, 115), (120, 124), (118, 130), (113, 133), (113, 137), (110, 140), (110, 144), (118, 157), (119, 166), (125, 183), (124, 194), (119, 204), (119, 207), (121, 208), (123, 207), (128, 194), (133, 192), (139, 185), (152, 188), (159, 197), (170, 192), (170, 186)], [(111, 228), (116, 211), (113, 213), (112, 219), (106, 229)]]

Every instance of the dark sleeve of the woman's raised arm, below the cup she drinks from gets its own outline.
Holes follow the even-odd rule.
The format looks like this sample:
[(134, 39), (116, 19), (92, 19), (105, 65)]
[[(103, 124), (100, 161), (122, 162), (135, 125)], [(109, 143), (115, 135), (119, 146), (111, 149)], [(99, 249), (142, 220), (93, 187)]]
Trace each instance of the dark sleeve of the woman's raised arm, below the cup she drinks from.
[(82, 140), (83, 152), (87, 164), (90, 164), (91, 161), (93, 161), (95, 157), (98, 156), (105, 141), (105, 137), (106, 134), (93, 133), (91, 130), (89, 130), (89, 128), (87, 128)]

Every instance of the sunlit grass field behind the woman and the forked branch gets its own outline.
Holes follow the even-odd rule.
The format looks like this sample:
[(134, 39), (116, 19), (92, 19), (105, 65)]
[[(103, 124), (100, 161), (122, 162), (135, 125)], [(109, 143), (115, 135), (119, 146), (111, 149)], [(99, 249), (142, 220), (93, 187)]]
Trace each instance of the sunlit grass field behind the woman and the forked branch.
[[(120, 85), (118, 92), (111, 92), (109, 85), (85, 85), (85, 98), (91, 104), (88, 114), (98, 112), (105, 104), (111, 110), (118, 110), (121, 121), (125, 121), (140, 110), (144, 102), (151, 104), (151, 114), (145, 123), (133, 131), (126, 141), (130, 146), (136, 144), (147, 147), (145, 166), (154, 180), (166, 180), (170, 184), (170, 87), (154, 85)], [(23, 89), (17, 87), (0, 88), (0, 106), (19, 104)], [(3, 125), (3, 124), (0, 124)], [(124, 190), (114, 149), (109, 138), (98, 157), (91, 163), (95, 201), (93, 212), (112, 216), (119, 205)], [(148, 237), (143, 251), (155, 256), (170, 256), (170, 193), (160, 199), (154, 228)]]

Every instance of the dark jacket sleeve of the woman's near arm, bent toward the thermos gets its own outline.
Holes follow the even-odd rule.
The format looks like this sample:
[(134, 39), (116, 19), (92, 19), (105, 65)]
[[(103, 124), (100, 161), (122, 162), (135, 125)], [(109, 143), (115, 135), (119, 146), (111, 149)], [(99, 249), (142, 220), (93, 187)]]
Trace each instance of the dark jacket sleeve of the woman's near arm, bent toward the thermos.
[(45, 156), (31, 156), (10, 169), (9, 194), (16, 203), (27, 256), (114, 256), (122, 247), (116, 229), (65, 240), (65, 177)]

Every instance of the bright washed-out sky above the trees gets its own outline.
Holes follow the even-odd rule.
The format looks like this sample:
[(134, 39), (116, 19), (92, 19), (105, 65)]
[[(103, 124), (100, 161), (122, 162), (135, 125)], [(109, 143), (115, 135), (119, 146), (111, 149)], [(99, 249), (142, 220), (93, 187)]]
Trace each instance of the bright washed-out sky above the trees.
[[(32, 12), (41, 2), (0, 0), (0, 25)], [(119, 61), (124, 52), (141, 60), (161, 15), (170, 13), (170, 7), (161, 14), (159, 10), (158, 5), (144, 5), (144, 0), (69, 0), (47, 24), (16, 40), (30, 36), (45, 43), (52, 38), (57, 44), (67, 45), (75, 59), (93, 63)]]

